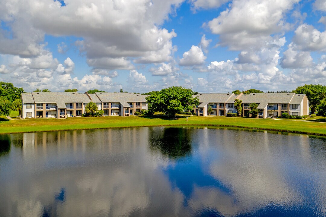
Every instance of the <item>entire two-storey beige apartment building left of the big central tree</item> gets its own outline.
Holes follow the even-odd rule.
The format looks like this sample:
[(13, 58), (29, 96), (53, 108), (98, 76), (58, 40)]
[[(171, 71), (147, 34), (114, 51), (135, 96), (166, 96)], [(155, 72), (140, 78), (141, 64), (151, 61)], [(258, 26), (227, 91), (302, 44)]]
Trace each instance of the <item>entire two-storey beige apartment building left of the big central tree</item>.
[(85, 106), (94, 102), (104, 115), (129, 116), (141, 109), (148, 109), (145, 97), (134, 93), (73, 93), (32, 92), (22, 93), (22, 118), (81, 116)]

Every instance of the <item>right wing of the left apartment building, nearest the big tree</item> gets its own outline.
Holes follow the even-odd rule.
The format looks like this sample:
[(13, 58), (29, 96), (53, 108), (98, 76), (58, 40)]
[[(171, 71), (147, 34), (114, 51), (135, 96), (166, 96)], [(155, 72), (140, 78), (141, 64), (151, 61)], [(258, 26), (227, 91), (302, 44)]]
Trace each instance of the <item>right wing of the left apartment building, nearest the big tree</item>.
[(148, 109), (145, 97), (134, 93), (95, 93), (101, 101), (104, 115), (129, 116), (141, 109)]

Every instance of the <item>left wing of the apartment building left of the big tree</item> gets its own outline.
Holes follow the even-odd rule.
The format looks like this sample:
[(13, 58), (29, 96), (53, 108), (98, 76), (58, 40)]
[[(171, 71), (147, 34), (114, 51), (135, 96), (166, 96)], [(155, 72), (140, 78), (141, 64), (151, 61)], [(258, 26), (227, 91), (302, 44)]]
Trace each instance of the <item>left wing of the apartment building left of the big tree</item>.
[[(32, 92), (22, 93), (22, 118), (81, 116), (89, 102), (98, 106), (101, 101), (95, 94), (73, 92)], [(100, 109), (100, 107), (99, 107)]]

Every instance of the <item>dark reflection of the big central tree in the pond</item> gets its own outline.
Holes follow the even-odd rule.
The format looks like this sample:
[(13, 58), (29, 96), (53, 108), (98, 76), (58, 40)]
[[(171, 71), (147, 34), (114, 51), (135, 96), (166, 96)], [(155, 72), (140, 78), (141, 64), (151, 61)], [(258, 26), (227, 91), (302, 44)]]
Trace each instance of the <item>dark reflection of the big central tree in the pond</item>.
[(169, 158), (179, 158), (191, 153), (191, 130), (184, 128), (150, 128), (149, 146)]

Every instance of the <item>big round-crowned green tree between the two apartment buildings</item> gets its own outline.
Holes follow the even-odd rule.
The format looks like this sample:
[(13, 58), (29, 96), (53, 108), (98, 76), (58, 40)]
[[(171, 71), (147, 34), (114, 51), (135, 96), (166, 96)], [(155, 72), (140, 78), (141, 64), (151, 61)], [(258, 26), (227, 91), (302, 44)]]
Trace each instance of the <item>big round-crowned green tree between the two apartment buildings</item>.
[(165, 88), (146, 97), (150, 112), (163, 112), (174, 116), (178, 112), (192, 110), (199, 104), (197, 97), (192, 97), (193, 91), (183, 87)]

